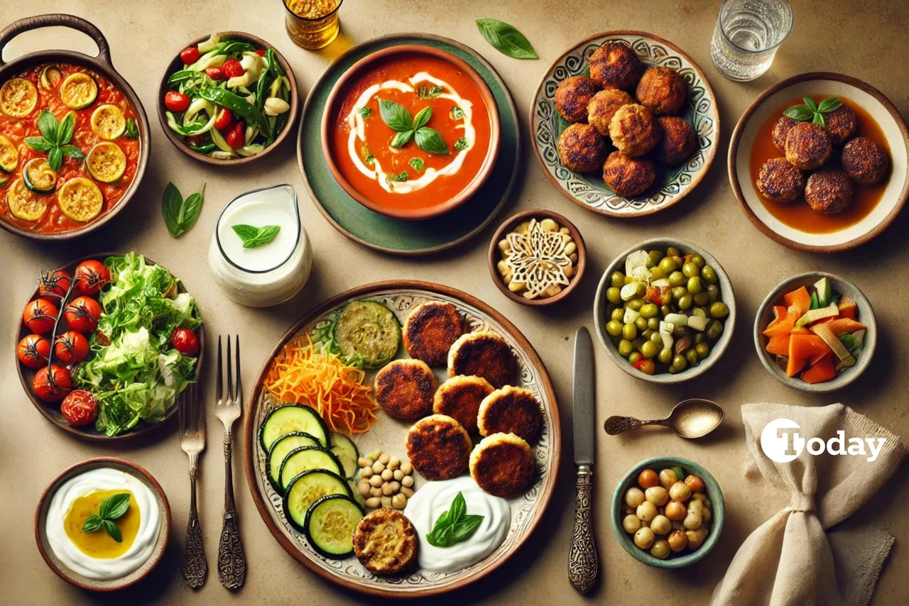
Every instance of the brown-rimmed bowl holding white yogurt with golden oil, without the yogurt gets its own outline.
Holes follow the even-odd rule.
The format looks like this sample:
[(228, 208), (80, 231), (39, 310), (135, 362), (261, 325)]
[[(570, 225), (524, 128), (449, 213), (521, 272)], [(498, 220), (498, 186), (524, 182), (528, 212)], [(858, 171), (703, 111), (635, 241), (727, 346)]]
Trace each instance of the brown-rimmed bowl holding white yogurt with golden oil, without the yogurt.
[[(148, 560), (136, 569), (133, 572), (130, 572), (125, 577), (119, 579), (112, 579), (110, 581), (99, 581), (97, 579), (89, 579), (75, 571), (71, 571), (66, 565), (60, 561), (51, 548), (50, 543), (47, 541), (47, 534), (45, 530), (46, 521), (47, 521), (47, 510), (50, 507), (51, 500), (54, 498), (54, 494), (57, 489), (70, 478), (79, 475), (81, 473), (89, 472), (93, 469), (100, 467), (113, 468), (120, 470), (125, 473), (129, 473), (134, 476), (140, 482), (144, 483), (155, 495), (155, 502), (157, 502), (158, 509), (161, 512), (161, 525), (158, 528), (158, 539), (155, 542), (155, 548), (152, 551), (152, 554), (148, 557)], [(60, 473), (54, 480), (48, 484), (45, 488), (45, 492), (41, 494), (41, 498), (38, 500), (38, 506), (35, 509), (35, 541), (38, 544), (38, 551), (41, 551), (41, 557), (47, 562), (47, 566), (50, 567), (55, 574), (63, 579), (64, 581), (75, 585), (84, 590), (88, 591), (116, 591), (128, 587), (138, 581), (141, 581), (145, 576), (157, 565), (161, 558), (164, 556), (165, 548), (167, 547), (167, 537), (170, 534), (171, 529), (171, 514), (170, 514), (170, 503), (167, 502), (167, 496), (165, 495), (164, 490), (152, 474), (146, 472), (143, 468), (136, 465), (134, 462), (126, 461), (125, 459), (120, 459), (117, 457), (96, 457), (94, 459), (88, 459), (87, 461), (79, 462), (69, 467), (64, 472)]]

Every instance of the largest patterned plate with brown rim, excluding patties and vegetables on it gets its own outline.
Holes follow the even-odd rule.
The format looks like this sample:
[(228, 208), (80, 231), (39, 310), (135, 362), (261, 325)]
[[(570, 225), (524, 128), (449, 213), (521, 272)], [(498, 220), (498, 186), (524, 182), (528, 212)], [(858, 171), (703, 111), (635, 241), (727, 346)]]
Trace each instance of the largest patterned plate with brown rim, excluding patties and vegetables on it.
[[(454, 304), (466, 319), (467, 331), (491, 330), (501, 334), (511, 345), (520, 368), (520, 386), (533, 392), (544, 410), (543, 434), (534, 448), (536, 474), (524, 494), (510, 500), (511, 528), (502, 545), (484, 561), (451, 573), (417, 570), (406, 576), (377, 577), (366, 571), (353, 556), (346, 560), (329, 560), (319, 555), (305, 536), (287, 522), (281, 496), (266, 479), (265, 452), (256, 439), (265, 414), (277, 403), (271, 394), (263, 390), (262, 382), (272, 360), (285, 343), (295, 336), (315, 333), (326, 323), (331, 322), (347, 303), (360, 300), (383, 303), (395, 313), (401, 323), (404, 323), (410, 310), (427, 299)], [(403, 348), (399, 352), (399, 357), (406, 357)], [(445, 368), (436, 368), (435, 373), (440, 382), (447, 378)], [(368, 373), (365, 381), (372, 383), (374, 376), (375, 372)], [(514, 324), (487, 304), (448, 286), (408, 281), (372, 283), (341, 293), (322, 303), (285, 333), (280, 343), (275, 346), (256, 379), (251, 402), (253, 408), (245, 415), (244, 426), (246, 479), (265, 524), (285, 550), (306, 568), (327, 581), (354, 591), (385, 597), (423, 597), (452, 591), (482, 578), (506, 561), (527, 539), (543, 516), (555, 486), (559, 468), (561, 431), (555, 394), (543, 362)], [(371, 452), (381, 448), (384, 452), (404, 458), (405, 439), (411, 423), (395, 421), (381, 411), (378, 415), (379, 420), (372, 429), (355, 436), (357, 448), (360, 452)], [(416, 490), (419, 491), (424, 480), (416, 472), (415, 476)]]

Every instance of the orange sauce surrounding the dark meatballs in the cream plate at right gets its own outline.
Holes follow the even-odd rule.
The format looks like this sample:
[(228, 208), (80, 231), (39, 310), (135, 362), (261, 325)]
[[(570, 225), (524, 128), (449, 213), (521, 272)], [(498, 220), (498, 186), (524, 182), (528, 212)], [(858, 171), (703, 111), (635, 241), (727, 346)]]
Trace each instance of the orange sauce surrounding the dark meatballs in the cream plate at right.
[[(815, 103), (821, 103), (829, 94), (815, 94), (811, 98)], [(890, 146), (887, 144), (887, 138), (884, 131), (874, 122), (871, 114), (868, 114), (864, 108), (850, 99), (838, 96), (839, 100), (855, 112), (857, 128), (854, 137), (868, 137), (874, 143), (881, 146), (884, 152), (890, 156)], [(754, 136), (754, 144), (751, 148), (751, 169), (752, 184), (757, 183), (757, 174), (761, 170), (761, 165), (771, 158), (784, 156), (776, 145), (774, 145), (773, 131), (774, 124), (783, 115), (783, 112), (794, 105), (801, 105), (802, 99), (797, 98), (780, 105), (773, 114), (767, 118), (766, 122)], [(834, 153), (831, 156), (831, 162), (839, 164), (840, 154), (843, 152), (843, 145), (834, 145)], [(805, 174), (807, 179), (808, 174)], [(888, 179), (883, 179), (879, 183), (872, 185), (861, 185), (853, 183), (853, 200), (842, 212), (837, 214), (821, 214), (814, 212), (804, 201), (804, 194), (790, 202), (789, 204), (778, 204), (764, 198), (757, 188), (754, 193), (757, 194), (761, 204), (767, 212), (774, 215), (776, 219), (794, 229), (805, 233), (833, 233), (845, 229), (851, 225), (862, 221), (868, 214), (874, 211), (874, 207), (881, 202), (884, 197), (884, 190), (887, 188)]]

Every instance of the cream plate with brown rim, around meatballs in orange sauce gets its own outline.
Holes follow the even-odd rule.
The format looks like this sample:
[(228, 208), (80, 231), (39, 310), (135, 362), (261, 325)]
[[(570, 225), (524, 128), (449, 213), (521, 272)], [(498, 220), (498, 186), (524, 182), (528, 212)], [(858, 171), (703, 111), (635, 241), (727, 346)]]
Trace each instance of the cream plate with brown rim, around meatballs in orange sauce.
[[(773, 203), (762, 202), (751, 177), (752, 147), (762, 124), (787, 102), (816, 94), (842, 96), (858, 104), (880, 126), (890, 148), (889, 181), (881, 201), (858, 223), (831, 233), (807, 233), (775, 218), (764, 206)], [(838, 153), (837, 147), (834, 154)], [(909, 131), (903, 117), (879, 90), (848, 75), (829, 72), (800, 74), (765, 90), (742, 114), (729, 145), (729, 182), (745, 216), (764, 235), (798, 251), (836, 253), (870, 241), (893, 223), (909, 195), (907, 155)]]

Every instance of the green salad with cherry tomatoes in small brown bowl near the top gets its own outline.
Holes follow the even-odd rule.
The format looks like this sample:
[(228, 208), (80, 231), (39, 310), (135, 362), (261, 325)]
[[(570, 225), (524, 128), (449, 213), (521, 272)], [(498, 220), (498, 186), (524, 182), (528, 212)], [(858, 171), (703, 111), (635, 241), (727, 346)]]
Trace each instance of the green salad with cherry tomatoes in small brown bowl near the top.
[(193, 151), (219, 160), (260, 154), (290, 117), (291, 87), (274, 49), (213, 34), (180, 53), (161, 102)]

